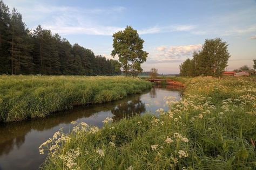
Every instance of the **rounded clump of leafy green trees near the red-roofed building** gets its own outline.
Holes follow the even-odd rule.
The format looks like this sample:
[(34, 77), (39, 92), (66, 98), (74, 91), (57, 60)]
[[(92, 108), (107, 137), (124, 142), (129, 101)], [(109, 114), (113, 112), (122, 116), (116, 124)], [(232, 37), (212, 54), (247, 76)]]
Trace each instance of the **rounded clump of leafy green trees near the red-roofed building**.
[(220, 76), (230, 58), (227, 46), (221, 38), (206, 39), (201, 51), (195, 51), (192, 59), (181, 63), (180, 76)]

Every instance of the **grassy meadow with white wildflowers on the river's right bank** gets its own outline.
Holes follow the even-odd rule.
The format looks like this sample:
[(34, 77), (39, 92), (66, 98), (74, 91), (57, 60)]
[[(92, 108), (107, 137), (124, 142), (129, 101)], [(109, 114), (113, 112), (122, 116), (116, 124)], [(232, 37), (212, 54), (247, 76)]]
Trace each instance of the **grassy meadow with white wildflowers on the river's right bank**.
[(255, 169), (256, 83), (250, 79), (179, 78), (183, 99), (170, 110), (112, 122), (74, 124), (40, 147), (43, 169)]

